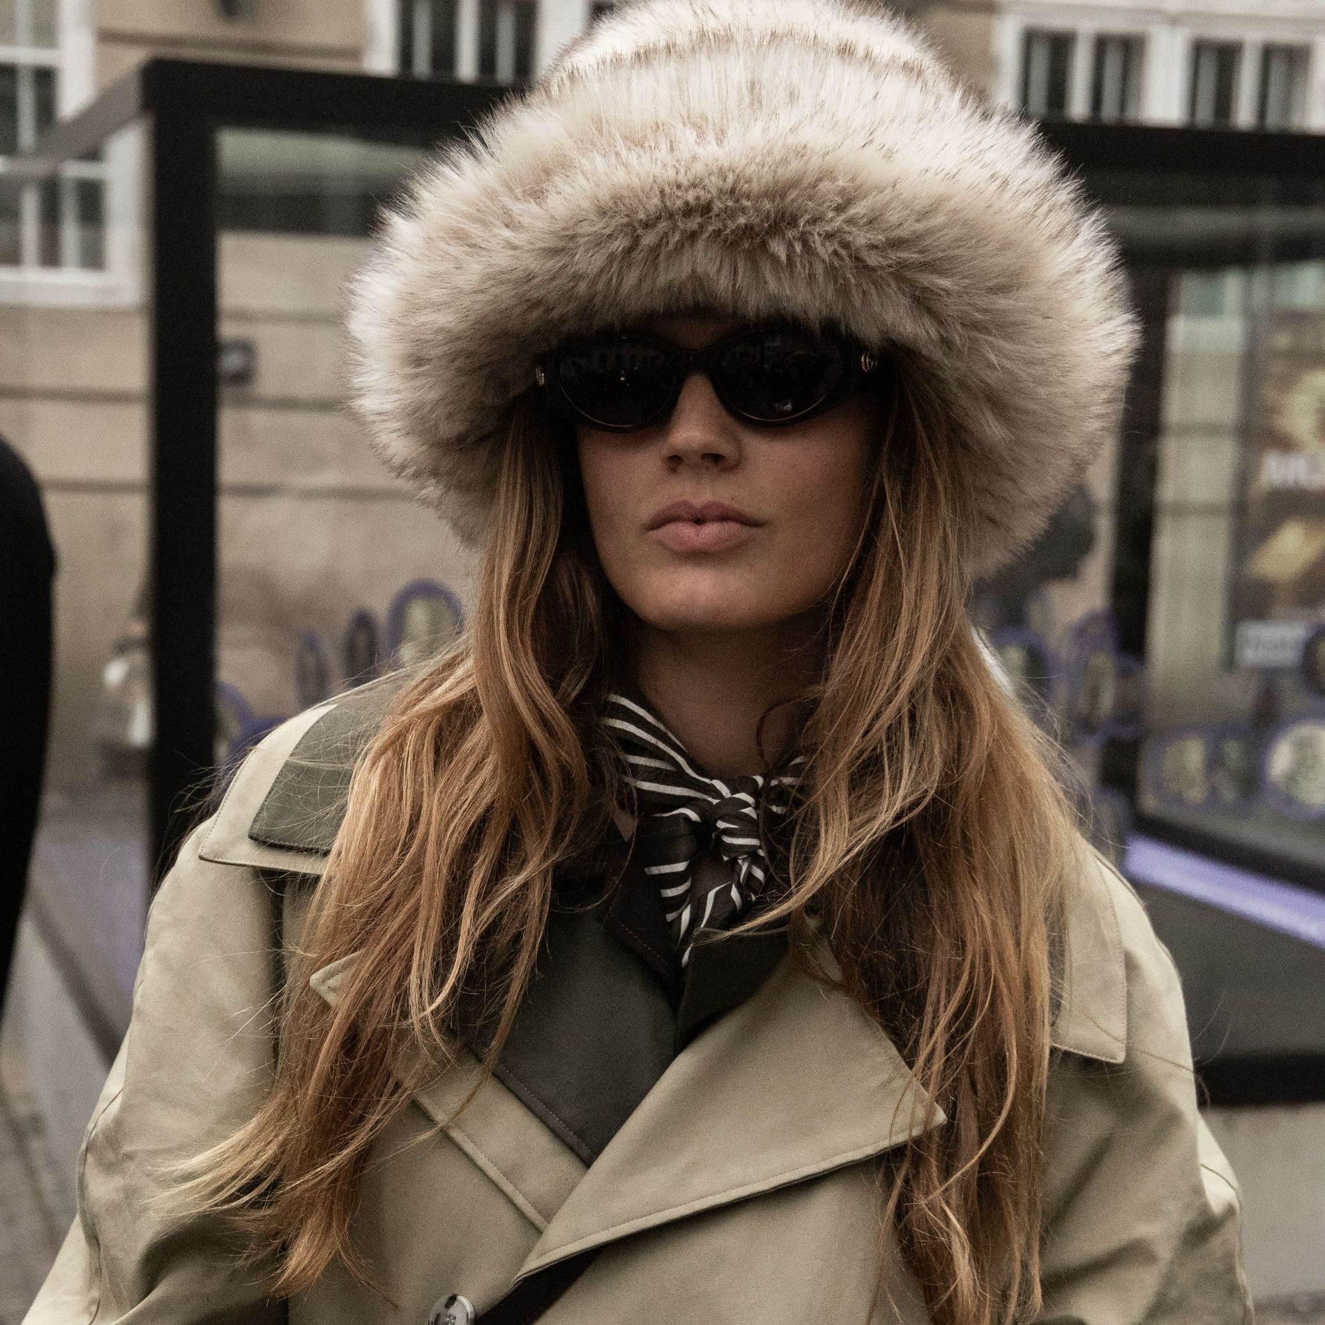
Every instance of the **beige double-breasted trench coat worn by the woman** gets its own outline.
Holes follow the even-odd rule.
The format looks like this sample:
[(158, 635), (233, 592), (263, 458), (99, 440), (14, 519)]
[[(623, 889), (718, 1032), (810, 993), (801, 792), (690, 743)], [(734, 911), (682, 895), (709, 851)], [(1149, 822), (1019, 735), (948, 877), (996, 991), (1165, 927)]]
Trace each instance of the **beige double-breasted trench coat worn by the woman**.
[[(432, 1081), (378, 1142), (354, 1226), (390, 1302), (339, 1269), (272, 1301), (213, 1224), (160, 1204), (160, 1166), (227, 1136), (268, 1089), (282, 935), (288, 950), (323, 857), (249, 829), (329, 708), (249, 757), (156, 896), (78, 1218), (26, 1325), (424, 1325), (440, 1297), (481, 1314), (517, 1276), (591, 1247), (547, 1325), (864, 1322), (873, 1179), (909, 1136), (916, 1086), (849, 1000), (788, 962), (680, 1053), (587, 1169), (497, 1081), (449, 1121), (472, 1061)], [(1246, 1322), (1239, 1191), (1196, 1112), (1178, 977), (1098, 856), (1069, 947), (1039, 1321)], [(334, 999), (337, 971), (314, 984)], [(929, 1320), (896, 1256), (888, 1283), (900, 1314), (876, 1322)]]

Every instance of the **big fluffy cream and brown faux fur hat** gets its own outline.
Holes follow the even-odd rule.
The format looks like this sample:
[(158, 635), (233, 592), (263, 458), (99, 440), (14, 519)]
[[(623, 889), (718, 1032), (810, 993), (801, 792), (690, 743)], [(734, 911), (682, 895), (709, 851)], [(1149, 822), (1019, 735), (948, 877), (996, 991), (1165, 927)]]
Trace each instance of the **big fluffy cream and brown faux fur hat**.
[(355, 405), (476, 542), (535, 356), (694, 307), (909, 347), (977, 498), (975, 575), (1106, 444), (1136, 342), (1080, 187), (902, 19), (867, 0), (635, 0), (386, 219), (352, 292)]

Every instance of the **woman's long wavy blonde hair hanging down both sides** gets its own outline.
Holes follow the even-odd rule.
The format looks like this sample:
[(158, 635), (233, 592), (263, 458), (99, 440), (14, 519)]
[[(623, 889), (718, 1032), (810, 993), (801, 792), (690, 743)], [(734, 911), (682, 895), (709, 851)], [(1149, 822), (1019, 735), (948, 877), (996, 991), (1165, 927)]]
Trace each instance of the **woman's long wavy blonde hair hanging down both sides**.
[[(959, 439), (902, 359), (869, 517), (806, 696), (792, 947), (807, 909), (845, 991), (949, 1122), (881, 1166), (938, 1325), (1039, 1302), (1052, 953), (1077, 819), (1053, 743), (1007, 698), (967, 615)], [(490, 1068), (543, 935), (553, 867), (600, 832), (594, 704), (620, 604), (584, 533), (568, 439), (522, 399), (506, 439), (472, 637), (395, 701), (360, 758), (280, 1023), (274, 1086), (184, 1191), (253, 1248), (276, 1292), (339, 1257), (372, 1142), (466, 1026)], [(334, 1007), (307, 975), (358, 954)]]

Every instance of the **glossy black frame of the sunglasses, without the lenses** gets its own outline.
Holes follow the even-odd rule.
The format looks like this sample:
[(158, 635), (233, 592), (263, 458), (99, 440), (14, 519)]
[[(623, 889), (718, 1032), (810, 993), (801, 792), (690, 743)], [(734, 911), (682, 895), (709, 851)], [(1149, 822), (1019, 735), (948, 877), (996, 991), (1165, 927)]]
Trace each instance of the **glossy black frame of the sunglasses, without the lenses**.
[[(739, 409), (731, 400), (727, 399), (726, 392), (718, 382), (718, 366), (721, 355), (734, 343), (761, 333), (776, 331), (792, 331), (799, 335), (812, 335), (815, 339), (824, 341), (833, 346), (841, 356), (843, 374), (833, 384), (828, 395), (825, 395), (822, 400), (818, 400), (810, 408), (802, 409), (800, 413), (792, 415), (788, 419), (759, 419)], [(664, 398), (662, 404), (641, 423), (610, 424), (594, 419), (566, 395), (564, 388), (559, 382), (558, 370), (564, 355), (576, 352), (590, 344), (602, 344), (604, 341), (631, 341), (632, 343), (643, 342), (644, 344), (652, 346), (653, 348), (661, 351), (665, 359), (665, 366), (673, 375), (672, 390)], [(621, 327), (602, 331), (595, 335), (576, 337), (575, 339), (558, 346), (555, 350), (550, 350), (547, 354), (541, 355), (535, 360), (537, 366), (534, 370), (534, 380), (547, 396), (551, 407), (559, 413), (599, 432), (627, 433), (643, 432), (645, 428), (652, 428), (661, 419), (668, 417), (668, 415), (670, 415), (676, 408), (676, 403), (681, 398), (681, 391), (685, 388), (690, 376), (694, 372), (702, 372), (709, 379), (709, 386), (713, 387), (713, 394), (718, 398), (722, 408), (726, 409), (734, 419), (757, 428), (787, 428), (792, 424), (804, 423), (808, 419), (825, 413), (828, 409), (843, 404), (852, 396), (869, 390), (878, 380), (878, 378), (871, 375), (876, 372), (880, 363), (880, 356), (853, 337), (844, 335), (832, 329), (806, 331), (803, 327), (792, 326), (784, 322), (750, 323), (719, 337), (709, 344), (700, 346), (697, 350), (688, 350), (684, 346), (678, 346), (674, 342), (668, 341), (665, 337), (656, 335), (652, 331)]]

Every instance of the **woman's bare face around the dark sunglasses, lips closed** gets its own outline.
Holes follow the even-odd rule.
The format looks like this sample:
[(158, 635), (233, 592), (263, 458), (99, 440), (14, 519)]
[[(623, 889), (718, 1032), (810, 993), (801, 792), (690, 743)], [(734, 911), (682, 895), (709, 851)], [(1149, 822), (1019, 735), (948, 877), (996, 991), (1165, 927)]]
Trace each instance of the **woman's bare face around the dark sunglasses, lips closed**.
[[(739, 326), (659, 317), (648, 330), (698, 348)], [(814, 608), (847, 570), (874, 456), (856, 396), (806, 423), (759, 428), (693, 374), (641, 432), (578, 425), (599, 559), (625, 606), (668, 632), (749, 631)]]

